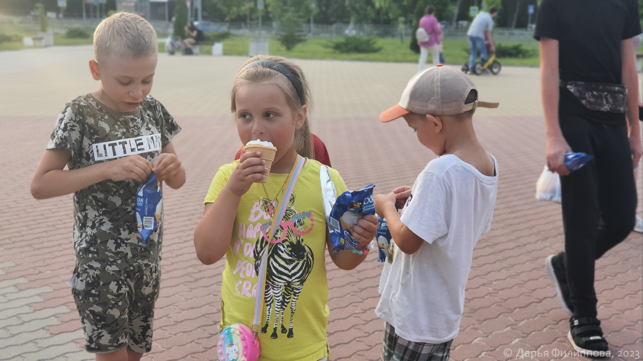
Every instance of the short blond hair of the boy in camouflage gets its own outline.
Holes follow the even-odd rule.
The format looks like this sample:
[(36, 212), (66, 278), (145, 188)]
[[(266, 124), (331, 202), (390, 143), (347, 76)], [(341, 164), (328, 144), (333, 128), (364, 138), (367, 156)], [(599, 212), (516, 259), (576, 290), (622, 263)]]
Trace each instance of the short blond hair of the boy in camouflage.
[(94, 33), (94, 60), (100, 64), (108, 54), (145, 57), (158, 52), (156, 31), (133, 13), (116, 13), (98, 24)]

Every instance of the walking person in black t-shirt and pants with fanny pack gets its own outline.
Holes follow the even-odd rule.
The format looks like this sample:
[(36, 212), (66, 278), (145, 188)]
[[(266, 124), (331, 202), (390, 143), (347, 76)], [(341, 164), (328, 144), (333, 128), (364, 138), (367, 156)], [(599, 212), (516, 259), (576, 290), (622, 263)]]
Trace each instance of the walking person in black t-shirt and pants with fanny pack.
[[(561, 175), (565, 231), (565, 251), (546, 265), (572, 316), (568, 339), (586, 356), (610, 352), (597, 319), (594, 262), (634, 228), (641, 139), (631, 38), (640, 32), (637, 0), (543, 0), (536, 21), (545, 152)], [(594, 159), (570, 173), (567, 152)]]

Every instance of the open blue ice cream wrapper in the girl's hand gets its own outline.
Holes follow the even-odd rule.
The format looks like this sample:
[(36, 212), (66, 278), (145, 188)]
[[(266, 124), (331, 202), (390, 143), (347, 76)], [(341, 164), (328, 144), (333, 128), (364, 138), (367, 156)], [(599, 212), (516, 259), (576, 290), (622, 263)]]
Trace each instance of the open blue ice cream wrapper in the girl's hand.
[(350, 235), (350, 226), (357, 224), (358, 219), (364, 215), (375, 214), (374, 187), (375, 184), (370, 184), (359, 191), (345, 191), (337, 197), (328, 223), (331, 242), (335, 246), (332, 252), (357, 248), (358, 242)]

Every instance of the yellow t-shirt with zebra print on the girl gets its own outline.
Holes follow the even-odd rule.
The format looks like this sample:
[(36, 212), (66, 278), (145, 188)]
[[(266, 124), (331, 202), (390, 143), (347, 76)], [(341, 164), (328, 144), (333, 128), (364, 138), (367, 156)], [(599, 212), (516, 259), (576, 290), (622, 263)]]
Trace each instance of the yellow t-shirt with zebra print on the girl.
[[(219, 168), (205, 202), (214, 202), (238, 161)], [(328, 280), (325, 267), (326, 218), (321, 200), (320, 166), (307, 159), (276, 231), (283, 240), (273, 245), (266, 267), (266, 303), (259, 333), (259, 360), (317, 361), (326, 356)], [(337, 194), (347, 190), (336, 170), (330, 169)], [(226, 251), (221, 285), (221, 329), (233, 323), (252, 326), (262, 225), (270, 222), (273, 199), (287, 174), (270, 173), (265, 184), (253, 183), (241, 197), (232, 240)], [(265, 186), (265, 189), (264, 189)], [(267, 194), (266, 194), (267, 193)], [(277, 199), (278, 201), (278, 199)], [(284, 236), (284, 229), (287, 229)], [(259, 242), (258, 242), (259, 241)], [(267, 327), (266, 327), (267, 326)]]

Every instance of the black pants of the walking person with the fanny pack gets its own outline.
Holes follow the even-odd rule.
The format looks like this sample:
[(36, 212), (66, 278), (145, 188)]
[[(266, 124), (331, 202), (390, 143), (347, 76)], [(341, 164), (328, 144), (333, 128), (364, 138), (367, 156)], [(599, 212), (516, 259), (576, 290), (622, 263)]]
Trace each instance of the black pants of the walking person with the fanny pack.
[(591, 154), (583, 168), (561, 177), (565, 257), (574, 317), (596, 316), (594, 261), (634, 229), (637, 190), (628, 126), (561, 114), (573, 152)]

